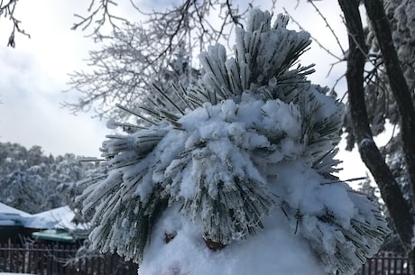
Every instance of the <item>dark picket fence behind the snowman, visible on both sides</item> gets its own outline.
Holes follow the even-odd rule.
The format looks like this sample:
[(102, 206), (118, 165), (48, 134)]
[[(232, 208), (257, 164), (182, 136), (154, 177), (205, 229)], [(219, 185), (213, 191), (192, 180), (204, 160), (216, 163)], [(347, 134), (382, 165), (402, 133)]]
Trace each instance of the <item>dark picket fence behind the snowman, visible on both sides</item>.
[[(76, 247), (0, 244), (0, 272), (38, 275), (137, 275), (137, 264), (112, 254), (75, 257)], [(356, 275), (407, 275), (406, 257), (381, 253), (366, 261)]]

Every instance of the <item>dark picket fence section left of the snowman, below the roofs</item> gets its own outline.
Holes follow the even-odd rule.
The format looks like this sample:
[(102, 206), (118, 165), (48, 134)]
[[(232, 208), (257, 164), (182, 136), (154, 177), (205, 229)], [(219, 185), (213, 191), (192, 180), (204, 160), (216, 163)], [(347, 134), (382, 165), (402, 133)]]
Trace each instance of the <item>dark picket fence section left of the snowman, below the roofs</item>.
[(137, 275), (137, 264), (117, 255), (75, 257), (76, 247), (0, 244), (0, 272), (38, 275)]

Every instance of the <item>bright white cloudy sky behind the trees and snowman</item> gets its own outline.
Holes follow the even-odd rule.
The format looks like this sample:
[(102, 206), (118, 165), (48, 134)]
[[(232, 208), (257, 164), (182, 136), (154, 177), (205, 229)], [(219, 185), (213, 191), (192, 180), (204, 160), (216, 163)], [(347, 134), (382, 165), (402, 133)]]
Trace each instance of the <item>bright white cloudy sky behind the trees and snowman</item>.
[[(23, 29), (32, 38), (17, 35), (15, 49), (6, 47), (11, 25), (5, 18), (0, 19), (0, 142), (17, 142), (27, 148), (40, 145), (45, 153), (53, 155), (71, 152), (99, 156), (98, 148), (106, 133), (109, 133), (106, 122), (92, 119), (93, 114), (70, 115), (68, 109), (60, 107), (64, 101), (76, 100), (75, 93), (61, 91), (68, 88), (67, 74), (85, 68), (82, 60), (88, 58), (88, 50), (93, 50), (95, 46), (84, 37), (88, 32), (70, 30), (72, 23), (77, 20), (73, 14), (87, 14), (88, 3), (87, 0), (19, 1), (17, 16), (23, 22)], [(125, 5), (129, 1), (123, 3)], [(165, 6), (170, 1), (152, 3)], [(259, 3), (255, 2), (255, 5)], [(337, 1), (316, 4), (339, 33), (343, 45), (347, 45), (346, 30)], [(283, 13), (281, 7), (286, 7), (312, 36), (340, 54), (336, 41), (312, 6), (306, 1), (301, 1), (297, 9), (296, 5), (295, 0), (278, 1), (274, 13)], [(145, 9), (145, 5), (140, 6)], [(260, 6), (267, 8), (266, 5)], [(139, 18), (129, 5), (117, 12), (134, 16), (135, 20)], [(295, 26), (291, 25), (291, 28)], [(336, 66), (327, 78), (329, 64), (336, 60), (327, 56), (317, 43), (313, 42), (311, 47), (301, 63), (317, 64), (317, 72), (311, 77), (314, 83), (333, 85), (345, 72), (344, 64)], [(338, 93), (344, 93), (345, 90), (344, 83), (337, 87)], [(364, 164), (356, 153), (342, 152), (339, 158), (345, 161), (345, 171), (341, 174), (343, 179), (364, 176)]]

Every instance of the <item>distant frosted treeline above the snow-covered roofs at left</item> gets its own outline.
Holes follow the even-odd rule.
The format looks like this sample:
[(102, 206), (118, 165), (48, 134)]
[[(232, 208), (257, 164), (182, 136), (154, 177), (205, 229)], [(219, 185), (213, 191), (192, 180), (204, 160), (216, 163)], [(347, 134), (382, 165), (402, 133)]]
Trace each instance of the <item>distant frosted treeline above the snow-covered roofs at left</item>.
[(94, 169), (73, 154), (46, 156), (40, 146), (0, 142), (0, 201), (32, 214), (67, 205), (79, 213), (75, 197), (83, 189), (75, 183)]

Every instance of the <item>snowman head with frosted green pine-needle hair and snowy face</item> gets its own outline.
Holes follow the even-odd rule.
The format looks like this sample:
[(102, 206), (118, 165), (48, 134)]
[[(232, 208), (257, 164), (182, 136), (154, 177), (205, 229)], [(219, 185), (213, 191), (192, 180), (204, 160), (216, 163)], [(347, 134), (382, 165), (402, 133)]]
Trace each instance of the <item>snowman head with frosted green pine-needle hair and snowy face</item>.
[(146, 125), (108, 136), (106, 175), (85, 180), (96, 248), (141, 275), (353, 274), (377, 252), (383, 216), (332, 175), (344, 106), (294, 66), (309, 34), (271, 19), (251, 12), (234, 57), (200, 55), (203, 78), (173, 84), (185, 110), (157, 85), (148, 115), (124, 108)]

